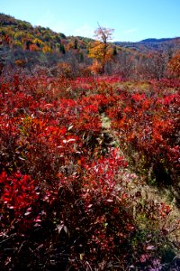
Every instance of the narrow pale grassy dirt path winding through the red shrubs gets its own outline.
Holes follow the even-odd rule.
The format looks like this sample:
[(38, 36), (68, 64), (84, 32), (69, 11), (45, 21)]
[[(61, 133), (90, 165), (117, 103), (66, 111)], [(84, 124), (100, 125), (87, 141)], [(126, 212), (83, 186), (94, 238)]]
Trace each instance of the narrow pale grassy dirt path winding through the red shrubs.
[[(109, 117), (106, 117), (103, 113), (102, 117), (102, 136), (103, 140), (106, 141), (106, 145), (108, 146), (118, 146), (120, 150), (120, 154), (126, 157), (125, 154), (121, 151), (121, 145), (118, 141), (117, 136), (111, 129), (111, 120)], [(127, 157), (128, 158), (128, 157)], [(159, 190), (155, 186), (149, 186), (147, 182), (145, 182), (145, 176), (138, 175), (133, 173), (128, 167), (121, 175), (121, 181), (126, 185), (130, 196), (134, 197), (137, 192), (141, 195), (141, 200), (143, 201), (144, 206), (146, 204), (161, 204), (164, 202), (169, 206), (170, 210), (172, 210), (165, 221), (163, 221), (162, 225), (159, 225), (159, 228), (162, 230), (166, 230), (166, 234), (168, 238), (172, 241), (174, 247), (179, 250), (178, 256), (180, 257), (180, 229), (176, 229), (176, 221), (180, 220), (180, 210), (176, 206), (175, 197), (172, 196), (172, 192), (170, 190), (163, 190), (159, 192)], [(134, 218), (138, 216), (138, 210), (136, 210), (136, 205), (134, 205)], [(144, 227), (144, 225), (141, 225)], [(174, 230), (175, 229), (175, 230)]]

